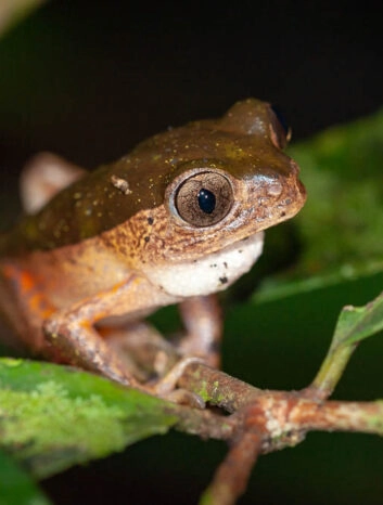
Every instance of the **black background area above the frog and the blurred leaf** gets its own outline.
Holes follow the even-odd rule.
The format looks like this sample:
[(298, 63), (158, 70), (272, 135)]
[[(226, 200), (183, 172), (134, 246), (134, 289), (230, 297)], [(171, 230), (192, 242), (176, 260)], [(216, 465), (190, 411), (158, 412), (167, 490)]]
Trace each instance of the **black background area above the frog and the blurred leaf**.
[(294, 140), (382, 105), (368, 3), (132, 3), (52, 2), (3, 38), (2, 170), (41, 150), (92, 168), (246, 96), (280, 105)]

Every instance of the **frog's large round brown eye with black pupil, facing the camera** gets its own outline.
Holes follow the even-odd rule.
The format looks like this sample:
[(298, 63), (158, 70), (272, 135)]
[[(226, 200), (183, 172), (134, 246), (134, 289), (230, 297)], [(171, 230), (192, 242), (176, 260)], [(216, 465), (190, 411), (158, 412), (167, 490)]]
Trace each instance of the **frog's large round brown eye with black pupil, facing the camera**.
[(216, 224), (227, 216), (233, 204), (229, 180), (216, 172), (200, 172), (183, 181), (175, 196), (179, 216), (197, 228)]

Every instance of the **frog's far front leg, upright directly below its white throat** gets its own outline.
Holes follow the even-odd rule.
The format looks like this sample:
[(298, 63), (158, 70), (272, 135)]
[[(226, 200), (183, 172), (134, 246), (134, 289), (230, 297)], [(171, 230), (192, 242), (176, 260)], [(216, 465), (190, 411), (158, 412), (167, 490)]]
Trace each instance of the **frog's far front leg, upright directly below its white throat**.
[(183, 355), (202, 358), (209, 366), (220, 363), (222, 315), (216, 295), (187, 298), (179, 306), (187, 335), (179, 345)]

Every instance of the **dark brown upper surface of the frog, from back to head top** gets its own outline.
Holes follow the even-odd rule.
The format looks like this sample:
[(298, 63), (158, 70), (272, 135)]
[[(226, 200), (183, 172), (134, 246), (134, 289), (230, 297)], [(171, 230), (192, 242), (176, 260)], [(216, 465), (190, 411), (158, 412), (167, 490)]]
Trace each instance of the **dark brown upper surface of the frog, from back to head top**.
[(166, 187), (187, 166), (189, 170), (221, 167), (238, 180), (267, 176), (294, 190), (297, 170), (281, 151), (286, 137), (279, 133), (275, 121), (269, 104), (250, 99), (235, 104), (222, 118), (154, 135), (22, 219), (0, 238), (0, 255), (79, 244), (128, 222), (142, 210), (158, 208)]

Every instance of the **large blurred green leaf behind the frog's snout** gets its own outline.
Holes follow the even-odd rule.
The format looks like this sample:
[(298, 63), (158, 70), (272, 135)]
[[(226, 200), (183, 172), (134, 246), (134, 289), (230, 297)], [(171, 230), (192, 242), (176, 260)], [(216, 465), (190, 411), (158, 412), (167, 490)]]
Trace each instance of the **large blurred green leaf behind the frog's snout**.
[(301, 167), (307, 203), (291, 222), (267, 232), (266, 255), (276, 250), (271, 244), (267, 254), (268, 241), (284, 235), (278, 258), (291, 256), (295, 234), (299, 256), (294, 269), (261, 284), (257, 301), (383, 271), (383, 109), (294, 144), (289, 154)]

